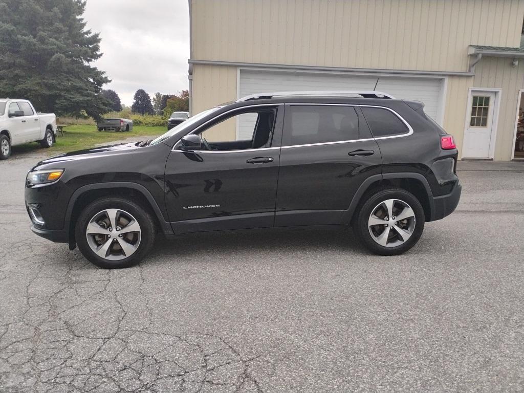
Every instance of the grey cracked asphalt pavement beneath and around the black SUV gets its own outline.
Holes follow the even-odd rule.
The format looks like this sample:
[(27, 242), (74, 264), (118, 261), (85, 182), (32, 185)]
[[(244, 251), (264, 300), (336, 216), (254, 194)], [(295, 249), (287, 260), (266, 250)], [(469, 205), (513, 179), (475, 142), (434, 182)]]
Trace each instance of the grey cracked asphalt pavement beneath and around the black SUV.
[(0, 162), (0, 391), (521, 392), (524, 163), (461, 162), (396, 257), (351, 231), (206, 234), (102, 270), (29, 231)]

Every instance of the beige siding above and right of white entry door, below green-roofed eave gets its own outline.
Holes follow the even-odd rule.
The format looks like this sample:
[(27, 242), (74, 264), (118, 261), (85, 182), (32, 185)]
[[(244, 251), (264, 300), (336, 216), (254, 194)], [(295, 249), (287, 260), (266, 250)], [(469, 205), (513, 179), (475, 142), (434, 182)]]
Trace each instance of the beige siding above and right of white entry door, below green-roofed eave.
[(511, 67), (511, 58), (485, 57), (475, 67), (474, 88), (502, 89), (495, 141), (495, 160), (510, 160), (515, 138), (519, 89), (524, 89), (524, 61)]

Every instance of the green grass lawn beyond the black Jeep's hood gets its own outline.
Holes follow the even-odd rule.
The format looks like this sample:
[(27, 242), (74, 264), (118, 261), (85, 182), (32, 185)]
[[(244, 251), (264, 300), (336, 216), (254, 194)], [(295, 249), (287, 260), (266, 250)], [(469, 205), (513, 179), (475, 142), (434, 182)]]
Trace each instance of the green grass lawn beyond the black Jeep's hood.
[(36, 151), (48, 155), (56, 155), (63, 152), (82, 150), (99, 144), (111, 144), (115, 140), (135, 138), (136, 140), (147, 139), (145, 137), (156, 137), (167, 132), (167, 127), (134, 126), (132, 131), (117, 133), (114, 131), (98, 131), (95, 125), (71, 125), (64, 128), (64, 136), (57, 135), (57, 141), (53, 147), (42, 149), (39, 143), (27, 143), (13, 146), (13, 155), (22, 152)]

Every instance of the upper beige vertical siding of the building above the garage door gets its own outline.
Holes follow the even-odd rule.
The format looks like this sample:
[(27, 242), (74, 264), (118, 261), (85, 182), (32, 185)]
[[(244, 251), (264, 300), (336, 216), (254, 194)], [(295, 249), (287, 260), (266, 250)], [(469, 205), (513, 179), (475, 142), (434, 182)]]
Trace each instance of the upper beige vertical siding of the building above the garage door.
[(193, 57), (466, 71), (468, 45), (517, 47), (524, 0), (192, 0)]

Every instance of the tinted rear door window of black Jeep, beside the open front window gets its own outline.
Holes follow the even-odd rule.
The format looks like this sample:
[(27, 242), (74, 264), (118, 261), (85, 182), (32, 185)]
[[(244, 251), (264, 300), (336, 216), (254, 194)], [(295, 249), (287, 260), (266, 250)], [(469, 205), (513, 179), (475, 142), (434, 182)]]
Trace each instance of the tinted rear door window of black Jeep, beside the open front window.
[(353, 106), (289, 105), (282, 146), (356, 140), (358, 116)]

